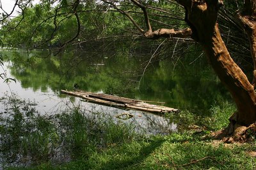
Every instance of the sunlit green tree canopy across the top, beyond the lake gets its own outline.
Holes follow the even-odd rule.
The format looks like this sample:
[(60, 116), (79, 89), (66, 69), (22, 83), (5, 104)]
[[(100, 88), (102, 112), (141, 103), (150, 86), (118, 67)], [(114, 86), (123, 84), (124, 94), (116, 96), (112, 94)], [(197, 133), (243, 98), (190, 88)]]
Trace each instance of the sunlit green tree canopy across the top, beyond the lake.
[[(70, 42), (85, 45), (88, 40), (106, 37), (141, 36), (148, 26), (142, 17), (143, 11), (134, 2), (136, 1), (16, 1), (15, 10), (19, 11), (19, 15), (13, 18), (14, 12), (11, 12), (3, 13), (1, 17), (2, 45), (61, 47)], [(170, 37), (170, 33), (164, 32), (168, 31), (164, 27), (171, 27), (173, 31), (187, 30), (185, 10), (175, 1), (145, 1), (143, 4), (147, 8), (149, 27), (156, 30), (148, 36)], [(228, 12), (237, 10), (234, 3), (228, 3), (227, 7)], [(232, 17), (228, 19), (230, 22), (233, 20)], [(236, 23), (235, 25), (237, 26)], [(187, 31), (190, 34), (189, 29)]]

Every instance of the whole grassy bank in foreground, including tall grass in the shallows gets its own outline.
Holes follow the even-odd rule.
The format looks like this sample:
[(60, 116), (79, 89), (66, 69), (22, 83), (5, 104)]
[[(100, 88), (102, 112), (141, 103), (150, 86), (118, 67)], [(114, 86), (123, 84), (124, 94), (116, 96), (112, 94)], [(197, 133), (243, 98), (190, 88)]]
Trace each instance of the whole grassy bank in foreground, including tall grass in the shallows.
[[(2, 99), (2, 100), (7, 100)], [(234, 106), (212, 116), (166, 115), (183, 130), (141, 135), (131, 124), (79, 108), (40, 115), (22, 100), (1, 114), (1, 164), (7, 169), (256, 169), (256, 143), (224, 144), (207, 135), (225, 127)]]

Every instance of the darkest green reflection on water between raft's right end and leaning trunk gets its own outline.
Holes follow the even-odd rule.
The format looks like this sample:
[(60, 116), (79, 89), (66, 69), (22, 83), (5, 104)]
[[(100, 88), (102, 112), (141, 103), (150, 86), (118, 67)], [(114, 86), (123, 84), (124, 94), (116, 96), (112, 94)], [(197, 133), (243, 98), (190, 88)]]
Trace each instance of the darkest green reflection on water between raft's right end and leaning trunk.
[(211, 105), (230, 100), (206, 61), (198, 56), (200, 52), (191, 52), (175, 66), (168, 59), (155, 63), (143, 78), (138, 97), (164, 99), (162, 101), (171, 107), (202, 114), (208, 112)]

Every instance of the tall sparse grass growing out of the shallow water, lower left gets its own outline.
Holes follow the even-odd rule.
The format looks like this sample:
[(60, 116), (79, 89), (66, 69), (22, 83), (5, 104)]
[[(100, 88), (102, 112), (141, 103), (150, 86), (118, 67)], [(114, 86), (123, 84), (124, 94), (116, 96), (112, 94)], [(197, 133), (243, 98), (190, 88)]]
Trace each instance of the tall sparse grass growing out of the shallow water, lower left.
[(140, 137), (131, 124), (102, 112), (74, 108), (48, 116), (22, 104), (12, 98), (7, 112), (0, 114), (1, 167), (86, 159), (102, 148)]

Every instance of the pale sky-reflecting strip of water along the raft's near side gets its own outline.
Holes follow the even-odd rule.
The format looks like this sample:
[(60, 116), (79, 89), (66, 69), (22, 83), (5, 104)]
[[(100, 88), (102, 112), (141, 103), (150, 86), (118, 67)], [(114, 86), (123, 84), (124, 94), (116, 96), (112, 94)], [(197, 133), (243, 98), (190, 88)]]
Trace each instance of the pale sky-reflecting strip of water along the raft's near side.
[[(12, 70), (12, 62), (4, 63), (4, 70), (7, 75), (13, 76), (10, 72)], [(11, 68), (11, 69), (10, 69)], [(15, 77), (17, 79), (17, 77)], [(29, 81), (29, 77), (28, 77)], [(37, 85), (36, 85), (37, 86)], [(12, 105), (6, 104), (8, 97), (18, 98), (20, 101), (20, 107), (24, 107), (24, 104), (29, 104), (29, 107), (34, 107), (36, 111), (41, 114), (56, 114), (65, 111), (65, 109), (72, 109), (74, 107), (83, 109), (88, 112), (88, 117), (92, 114), (102, 113), (108, 115), (109, 118), (115, 119), (115, 121), (122, 121), (116, 118), (117, 115), (127, 112), (132, 114), (133, 117), (129, 120), (123, 120), (127, 123), (132, 123), (136, 127), (136, 132), (146, 134), (168, 134), (173, 131), (177, 131), (177, 125), (170, 123), (170, 121), (164, 117), (150, 114), (148, 112), (140, 111), (124, 111), (122, 109), (116, 109), (113, 107), (107, 107), (88, 102), (81, 102), (79, 98), (67, 97), (65, 95), (59, 95), (58, 91), (53, 91), (47, 87), (42, 90), (36, 89), (35, 86), (26, 88), (26, 84), (22, 84), (20, 79), (15, 82), (3, 83), (0, 88), (0, 114), (4, 114), (6, 110), (10, 109)], [(103, 93), (103, 91), (99, 91)]]

